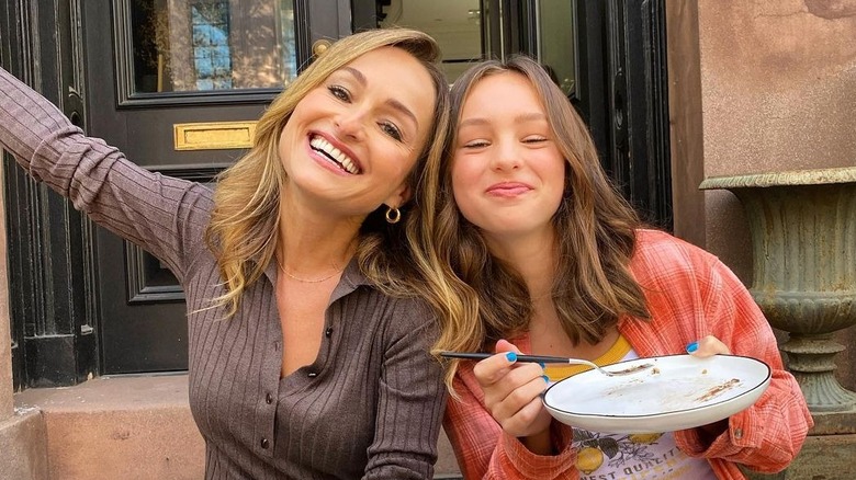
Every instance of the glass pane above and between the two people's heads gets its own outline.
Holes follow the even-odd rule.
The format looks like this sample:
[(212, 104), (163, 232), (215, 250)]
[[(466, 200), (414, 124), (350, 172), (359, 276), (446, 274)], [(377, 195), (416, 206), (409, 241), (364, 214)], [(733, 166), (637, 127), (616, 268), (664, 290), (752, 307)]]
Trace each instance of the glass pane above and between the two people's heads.
[(485, 58), (482, 1), (391, 0), (382, 5), (380, 27), (405, 26), (431, 35), (442, 52), (442, 68), (453, 82), (473, 62)]

